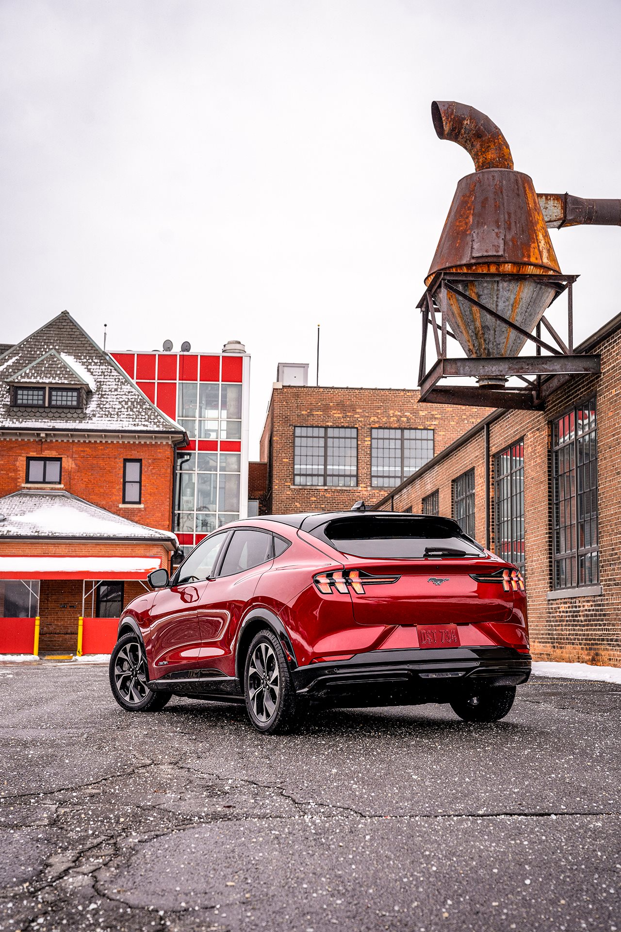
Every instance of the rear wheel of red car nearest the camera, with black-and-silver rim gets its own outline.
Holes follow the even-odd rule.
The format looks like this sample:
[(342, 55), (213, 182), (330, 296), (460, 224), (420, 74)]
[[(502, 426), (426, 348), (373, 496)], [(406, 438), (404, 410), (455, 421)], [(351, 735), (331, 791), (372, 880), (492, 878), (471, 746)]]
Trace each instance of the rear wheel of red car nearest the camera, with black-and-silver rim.
[(244, 697), (250, 722), (264, 734), (290, 732), (299, 702), (285, 651), (273, 631), (259, 631), (244, 664)]

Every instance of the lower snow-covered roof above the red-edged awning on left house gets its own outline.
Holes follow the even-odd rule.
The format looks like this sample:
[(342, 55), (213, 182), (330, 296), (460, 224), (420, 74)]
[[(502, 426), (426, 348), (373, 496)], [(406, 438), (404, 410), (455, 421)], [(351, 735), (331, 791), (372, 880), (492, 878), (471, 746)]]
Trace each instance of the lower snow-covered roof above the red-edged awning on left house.
[(177, 546), (171, 531), (107, 512), (59, 489), (24, 489), (0, 499), (0, 540), (5, 538), (82, 538), (92, 541), (157, 541)]

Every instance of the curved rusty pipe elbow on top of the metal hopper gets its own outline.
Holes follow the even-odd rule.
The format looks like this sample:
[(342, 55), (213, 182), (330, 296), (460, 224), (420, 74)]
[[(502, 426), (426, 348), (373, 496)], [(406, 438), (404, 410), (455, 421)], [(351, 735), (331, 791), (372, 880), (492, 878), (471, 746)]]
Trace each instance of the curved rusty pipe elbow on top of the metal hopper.
[(477, 171), (513, 168), (509, 144), (496, 124), (480, 110), (457, 101), (434, 101), (431, 118), (439, 138), (466, 149)]

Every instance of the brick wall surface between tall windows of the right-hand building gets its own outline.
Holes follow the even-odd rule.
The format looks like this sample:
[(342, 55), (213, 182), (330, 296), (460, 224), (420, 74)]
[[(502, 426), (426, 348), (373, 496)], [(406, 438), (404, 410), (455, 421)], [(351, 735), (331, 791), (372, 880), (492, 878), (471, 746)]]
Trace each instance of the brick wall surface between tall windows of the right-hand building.
[[(451, 485), (474, 466), (477, 538), (485, 542), (485, 470), (490, 470), (490, 536), (494, 549), (493, 458), (524, 439), (524, 547), (529, 624), (536, 660), (570, 660), (621, 665), (621, 331), (592, 351), (601, 353), (601, 376), (567, 382), (549, 396), (545, 411), (507, 411), (489, 424), (490, 460), (484, 456), (481, 426), (444, 459), (427, 464), (409, 484), (385, 497), (379, 507), (420, 513), (425, 495), (439, 489), (440, 514), (452, 514)], [(551, 422), (568, 408), (596, 396), (598, 417), (599, 535), (601, 595), (548, 598), (553, 586), (552, 505), (549, 450)], [(463, 410), (456, 408), (456, 411)], [(393, 505), (394, 501), (394, 505)]]

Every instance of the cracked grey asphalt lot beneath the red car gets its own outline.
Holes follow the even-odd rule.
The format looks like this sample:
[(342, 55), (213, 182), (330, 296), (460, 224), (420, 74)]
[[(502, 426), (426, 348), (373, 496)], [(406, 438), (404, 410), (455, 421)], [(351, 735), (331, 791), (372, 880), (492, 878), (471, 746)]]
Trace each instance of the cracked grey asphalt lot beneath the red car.
[(621, 689), (448, 706), (116, 706), (104, 666), (0, 667), (0, 928), (621, 930)]

